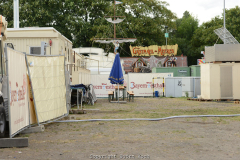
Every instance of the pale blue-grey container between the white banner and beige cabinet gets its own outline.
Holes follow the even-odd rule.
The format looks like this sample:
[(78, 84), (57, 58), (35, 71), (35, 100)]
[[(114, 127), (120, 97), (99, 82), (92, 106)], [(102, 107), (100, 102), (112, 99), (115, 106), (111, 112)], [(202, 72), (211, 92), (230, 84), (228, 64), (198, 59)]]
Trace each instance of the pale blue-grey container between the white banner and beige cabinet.
[(168, 77), (165, 92), (166, 97), (197, 97), (201, 95), (200, 77)]

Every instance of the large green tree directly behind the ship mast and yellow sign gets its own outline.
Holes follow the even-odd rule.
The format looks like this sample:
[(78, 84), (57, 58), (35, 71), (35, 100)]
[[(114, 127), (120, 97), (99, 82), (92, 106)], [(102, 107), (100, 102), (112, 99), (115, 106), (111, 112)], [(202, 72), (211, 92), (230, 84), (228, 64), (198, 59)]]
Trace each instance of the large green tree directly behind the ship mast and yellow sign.
[[(122, 5), (116, 5), (116, 15), (125, 16), (124, 22), (116, 25), (117, 38), (137, 38), (131, 45), (163, 45), (165, 44), (164, 28), (176, 28), (176, 16), (167, 9), (167, 3), (157, 0), (122, 0)], [(108, 16), (113, 16), (113, 5), (109, 7)], [(99, 20), (100, 21), (100, 20)], [(101, 21), (96, 26), (98, 38), (113, 37), (113, 25)], [(110, 26), (110, 27), (109, 27)], [(121, 44), (120, 53), (130, 56), (130, 43)], [(113, 46), (111, 46), (113, 48)]]

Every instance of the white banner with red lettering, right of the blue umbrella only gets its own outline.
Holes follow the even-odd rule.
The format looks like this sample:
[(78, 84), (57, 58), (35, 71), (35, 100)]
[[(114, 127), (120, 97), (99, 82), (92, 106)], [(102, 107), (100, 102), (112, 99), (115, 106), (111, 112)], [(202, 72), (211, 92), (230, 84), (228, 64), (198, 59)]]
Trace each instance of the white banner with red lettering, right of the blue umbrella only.
[[(173, 73), (128, 73), (129, 90), (134, 96), (153, 96), (153, 77), (173, 77)], [(154, 91), (163, 95), (163, 79), (154, 79)]]

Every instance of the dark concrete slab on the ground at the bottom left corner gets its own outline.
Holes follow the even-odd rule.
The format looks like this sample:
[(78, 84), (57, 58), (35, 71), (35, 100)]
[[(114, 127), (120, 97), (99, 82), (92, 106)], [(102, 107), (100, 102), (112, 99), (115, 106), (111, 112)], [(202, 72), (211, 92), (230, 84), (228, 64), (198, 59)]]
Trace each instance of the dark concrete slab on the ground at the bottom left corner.
[(0, 148), (28, 147), (28, 138), (0, 138)]

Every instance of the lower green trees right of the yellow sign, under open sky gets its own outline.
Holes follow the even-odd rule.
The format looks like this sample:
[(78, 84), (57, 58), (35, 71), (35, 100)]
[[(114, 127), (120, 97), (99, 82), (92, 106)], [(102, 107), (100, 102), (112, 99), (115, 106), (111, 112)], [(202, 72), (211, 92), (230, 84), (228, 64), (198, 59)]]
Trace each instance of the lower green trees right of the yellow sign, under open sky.
[[(240, 8), (226, 10), (226, 28), (239, 41), (240, 40)], [(188, 56), (188, 65), (195, 65), (201, 58), (201, 51), (205, 46), (222, 44), (222, 40), (214, 33), (215, 29), (223, 27), (223, 16), (213, 17), (210, 21), (198, 26), (198, 20), (185, 12), (183, 17), (176, 20), (177, 30), (171, 39), (172, 43), (179, 45), (178, 54)]]

